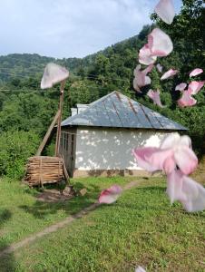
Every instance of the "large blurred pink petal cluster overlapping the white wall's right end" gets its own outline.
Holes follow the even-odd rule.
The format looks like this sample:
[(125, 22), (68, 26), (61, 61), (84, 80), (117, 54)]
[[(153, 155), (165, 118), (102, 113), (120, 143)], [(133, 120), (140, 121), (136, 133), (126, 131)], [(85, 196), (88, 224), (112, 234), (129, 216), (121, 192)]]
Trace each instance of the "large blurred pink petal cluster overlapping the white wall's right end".
[(172, 133), (161, 142), (159, 148), (143, 147), (133, 151), (140, 167), (150, 172), (163, 170), (169, 174), (179, 167), (185, 175), (196, 169), (198, 159), (190, 147), (190, 138)]

